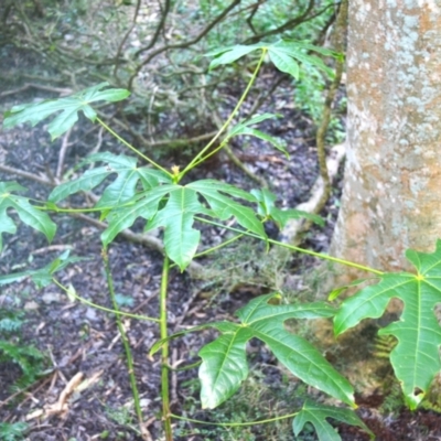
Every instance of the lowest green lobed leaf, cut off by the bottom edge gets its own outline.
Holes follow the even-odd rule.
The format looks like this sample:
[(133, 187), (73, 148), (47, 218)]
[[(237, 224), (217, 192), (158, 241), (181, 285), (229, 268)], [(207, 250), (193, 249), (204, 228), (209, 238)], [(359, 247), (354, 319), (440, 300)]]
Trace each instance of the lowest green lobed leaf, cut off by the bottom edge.
[(302, 410), (297, 415), (292, 422), (293, 432), (295, 437), (298, 437), (303, 430), (304, 424), (310, 422), (314, 426), (320, 441), (341, 441), (342, 438), (326, 421), (327, 418), (345, 422), (346, 424), (358, 426), (369, 433), (372, 439), (375, 438), (374, 433), (353, 410), (320, 405), (309, 399), (304, 401)]

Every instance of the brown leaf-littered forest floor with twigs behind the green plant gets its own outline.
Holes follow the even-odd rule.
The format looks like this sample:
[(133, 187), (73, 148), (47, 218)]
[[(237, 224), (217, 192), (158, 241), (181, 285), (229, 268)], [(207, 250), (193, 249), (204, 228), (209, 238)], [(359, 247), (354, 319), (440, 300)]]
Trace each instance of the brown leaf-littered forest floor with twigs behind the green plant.
[[(265, 82), (265, 75), (260, 79)], [(314, 123), (297, 110), (289, 89), (280, 88), (265, 111), (280, 112), (282, 118), (266, 121), (262, 130), (278, 136), (287, 142), (291, 159), (258, 141), (245, 149), (233, 146), (235, 153), (247, 168), (265, 178), (279, 197), (280, 207), (294, 207), (308, 200), (318, 175), (314, 148)], [(235, 93), (232, 92), (232, 103)], [(39, 93), (39, 98), (44, 96)], [(17, 103), (35, 98), (26, 92), (8, 96), (2, 109)], [(72, 131), (65, 165), (72, 166), (84, 158), (96, 144), (90, 127), (80, 121)], [(14, 129), (0, 132), (0, 164), (25, 171), (36, 176), (55, 174), (63, 140), (51, 144), (42, 127)], [(90, 147), (92, 146), (92, 147)], [(100, 151), (120, 152), (120, 147), (104, 135)], [(162, 157), (164, 162), (165, 155)], [(185, 152), (169, 152), (165, 165), (185, 161)], [(215, 178), (250, 190), (256, 182), (238, 170), (227, 158), (220, 155), (197, 171), (198, 178)], [(340, 176), (341, 179), (341, 176)], [(44, 200), (51, 187), (13, 174), (0, 174), (0, 180), (17, 180), (29, 189), (26, 193), (35, 200)], [(333, 194), (322, 213), (325, 227), (313, 227), (304, 238), (303, 247), (326, 251), (338, 209), (341, 183), (334, 183)], [(111, 308), (106, 278), (100, 259), (99, 229), (68, 216), (56, 216), (58, 230), (51, 245), (42, 235), (24, 226), (17, 235), (3, 235), (0, 255), (0, 275), (41, 268), (66, 249), (71, 254), (87, 258), (69, 266), (58, 275), (64, 286), (72, 286), (76, 293), (90, 302)], [(141, 230), (142, 225), (136, 225)], [(277, 235), (277, 232), (269, 232)], [(211, 227), (204, 229), (204, 247), (216, 244), (225, 230)], [(130, 313), (157, 316), (158, 292), (161, 280), (162, 256), (139, 244), (117, 239), (110, 247), (110, 265), (115, 287), (121, 308)], [(310, 273), (311, 283), (320, 283), (320, 275), (312, 275), (318, 262), (301, 255), (292, 255), (284, 261), (275, 261), (265, 247), (245, 240), (223, 249), (211, 258), (200, 260), (206, 273), (214, 275), (204, 280), (191, 279), (184, 272), (173, 270), (169, 291), (169, 329), (171, 333), (209, 321), (232, 319), (235, 310), (254, 295), (281, 290), (293, 300), (313, 300), (315, 288), (308, 287), (304, 273)], [(0, 421), (25, 421), (29, 424), (28, 440), (32, 441), (88, 441), (88, 440), (141, 440), (133, 415), (133, 404), (126, 367), (123, 348), (112, 314), (87, 304), (71, 301), (55, 286), (36, 290), (30, 280), (0, 288), (0, 308), (24, 311), (24, 325), (20, 331), (22, 345), (33, 344), (45, 355), (45, 373), (22, 394), (14, 395), (11, 385), (20, 377), (14, 364), (0, 363)], [(149, 349), (159, 338), (159, 330), (148, 321), (123, 319), (129, 343), (133, 351), (135, 370), (141, 395), (146, 429), (154, 441), (161, 440), (160, 421), (160, 361), (150, 357)], [(305, 324), (294, 325), (297, 331), (320, 342)], [(365, 364), (375, 358), (374, 332), (376, 325), (365, 327), (358, 341), (335, 343), (323, 348), (331, 363), (343, 370), (351, 364)], [(171, 365), (182, 367), (198, 361), (197, 352), (215, 333), (203, 331), (190, 333), (173, 341)], [(365, 340), (361, 340), (365, 338)], [(327, 343), (326, 343), (327, 344)], [(354, 346), (355, 344), (355, 346)], [(340, 345), (340, 348), (338, 348)], [(335, 348), (337, 347), (337, 348)], [(356, 349), (355, 349), (356, 348)], [(250, 377), (227, 404), (212, 411), (201, 410), (198, 401), (197, 368), (176, 370), (171, 374), (172, 411), (189, 418), (207, 421), (206, 424), (174, 421), (176, 440), (291, 440), (291, 419), (273, 424), (255, 424), (248, 428), (220, 428), (212, 422), (255, 421), (295, 411), (304, 397), (312, 394), (290, 376), (271, 353), (258, 342), (248, 347)], [(348, 358), (341, 359), (341, 355)], [(351, 358), (352, 356), (352, 358)], [(356, 359), (354, 362), (354, 359)], [(386, 367), (385, 367), (386, 366)], [(390, 377), (387, 362), (381, 361), (377, 378)], [(82, 376), (82, 387), (75, 390), (63, 407), (58, 407), (66, 385)], [(88, 381), (84, 381), (87, 379)], [(394, 385), (383, 389), (364, 389), (358, 378), (355, 385), (359, 408), (357, 413), (374, 431), (379, 441), (439, 440), (441, 418), (427, 410), (409, 412), (401, 406)], [(337, 424), (343, 440), (368, 440), (363, 431)], [(314, 440), (303, 433), (299, 440)]]

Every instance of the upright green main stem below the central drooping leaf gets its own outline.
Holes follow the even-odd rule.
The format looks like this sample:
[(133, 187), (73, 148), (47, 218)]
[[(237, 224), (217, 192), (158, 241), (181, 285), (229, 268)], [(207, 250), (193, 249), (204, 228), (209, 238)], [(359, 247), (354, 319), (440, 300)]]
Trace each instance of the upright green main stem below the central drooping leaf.
[[(160, 334), (161, 340), (168, 337), (166, 326), (166, 292), (169, 286), (170, 260), (164, 256), (160, 290)], [(161, 353), (161, 398), (162, 398), (162, 419), (165, 431), (165, 440), (173, 441), (172, 420), (170, 418), (170, 391), (169, 391), (169, 341), (162, 345)]]

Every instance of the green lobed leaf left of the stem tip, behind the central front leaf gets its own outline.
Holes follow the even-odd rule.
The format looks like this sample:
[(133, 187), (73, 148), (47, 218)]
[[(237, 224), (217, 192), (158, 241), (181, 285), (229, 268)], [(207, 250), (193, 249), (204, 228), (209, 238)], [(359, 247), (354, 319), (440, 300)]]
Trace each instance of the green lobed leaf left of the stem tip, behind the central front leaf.
[(137, 166), (135, 158), (123, 154), (116, 155), (108, 152), (92, 154), (80, 162), (78, 168), (97, 161), (105, 162), (106, 165), (88, 170), (80, 178), (56, 186), (49, 196), (50, 202), (57, 203), (71, 194), (90, 191), (111, 174), (117, 174), (117, 178), (104, 191), (96, 204), (97, 208), (122, 205), (136, 195), (138, 183), (143, 190), (152, 189), (160, 183), (171, 183), (165, 173), (150, 166)]

